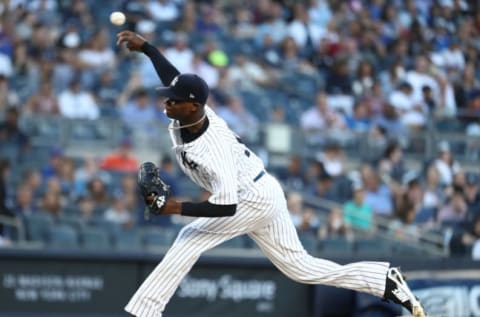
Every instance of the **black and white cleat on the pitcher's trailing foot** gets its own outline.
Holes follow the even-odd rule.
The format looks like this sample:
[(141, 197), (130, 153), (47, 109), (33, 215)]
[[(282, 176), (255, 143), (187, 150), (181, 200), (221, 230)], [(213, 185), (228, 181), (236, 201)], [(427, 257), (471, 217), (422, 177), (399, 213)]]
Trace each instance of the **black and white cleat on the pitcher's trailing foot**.
[(413, 295), (398, 268), (392, 267), (388, 269), (383, 297), (386, 300), (402, 305), (412, 313), (413, 317), (425, 317), (422, 305)]

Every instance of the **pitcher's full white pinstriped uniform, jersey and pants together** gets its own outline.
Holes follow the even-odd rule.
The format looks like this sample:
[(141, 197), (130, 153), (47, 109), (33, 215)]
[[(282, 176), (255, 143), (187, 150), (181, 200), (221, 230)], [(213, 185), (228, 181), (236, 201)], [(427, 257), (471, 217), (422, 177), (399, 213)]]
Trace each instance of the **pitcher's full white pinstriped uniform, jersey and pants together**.
[(262, 161), (238, 141), (221, 118), (208, 106), (205, 111), (209, 126), (192, 142), (184, 144), (180, 130), (170, 130), (173, 150), (182, 170), (212, 193), (211, 203), (237, 204), (237, 211), (231, 217), (198, 218), (185, 226), (125, 310), (137, 317), (161, 316), (200, 255), (242, 234), (248, 234), (280, 271), (297, 282), (382, 297), (389, 263), (339, 265), (310, 256), (290, 220), (280, 184), (265, 172)]

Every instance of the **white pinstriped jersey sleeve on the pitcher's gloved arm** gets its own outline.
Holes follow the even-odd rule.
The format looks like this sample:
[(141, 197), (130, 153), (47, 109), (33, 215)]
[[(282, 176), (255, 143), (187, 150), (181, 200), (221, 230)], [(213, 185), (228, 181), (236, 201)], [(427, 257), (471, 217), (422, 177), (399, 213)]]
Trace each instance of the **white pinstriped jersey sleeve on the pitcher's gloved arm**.
[(212, 160), (215, 173), (212, 180), (212, 196), (208, 201), (217, 205), (234, 205), (238, 203), (238, 173), (234, 155), (231, 151), (217, 152)]

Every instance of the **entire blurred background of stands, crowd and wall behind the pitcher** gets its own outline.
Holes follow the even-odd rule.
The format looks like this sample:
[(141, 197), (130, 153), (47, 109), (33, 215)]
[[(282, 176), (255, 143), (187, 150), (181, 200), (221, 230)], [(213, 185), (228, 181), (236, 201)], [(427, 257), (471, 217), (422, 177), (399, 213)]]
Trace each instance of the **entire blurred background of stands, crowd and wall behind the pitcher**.
[[(191, 220), (144, 218), (138, 165), (178, 200), (209, 195), (172, 159), (161, 83), (115, 45), (125, 29), (206, 80), (311, 254), (391, 261), (430, 314), (480, 316), (480, 7), (464, 0), (0, 1), (0, 316), (126, 316)], [(241, 237), (166, 316), (402, 313), (293, 283)]]

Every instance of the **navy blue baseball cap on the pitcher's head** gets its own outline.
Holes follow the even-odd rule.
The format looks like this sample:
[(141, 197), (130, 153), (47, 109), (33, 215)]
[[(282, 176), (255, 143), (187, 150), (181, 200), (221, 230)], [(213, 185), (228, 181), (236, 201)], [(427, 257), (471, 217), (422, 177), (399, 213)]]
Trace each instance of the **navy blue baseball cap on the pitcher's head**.
[(208, 98), (207, 83), (195, 74), (180, 74), (176, 76), (170, 86), (157, 88), (159, 96), (172, 100), (190, 101), (204, 105)]

